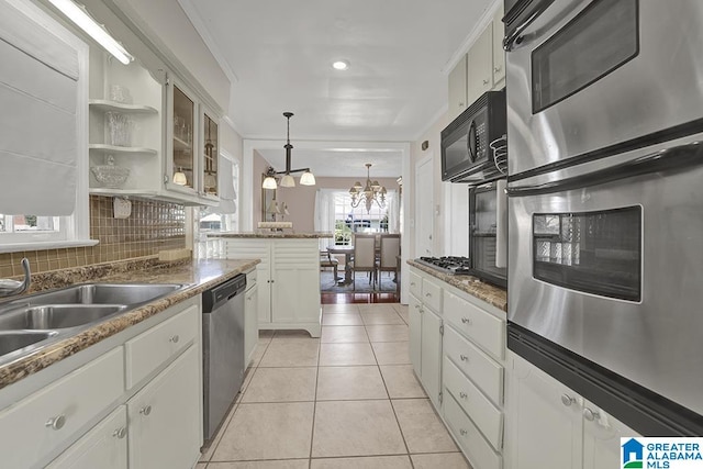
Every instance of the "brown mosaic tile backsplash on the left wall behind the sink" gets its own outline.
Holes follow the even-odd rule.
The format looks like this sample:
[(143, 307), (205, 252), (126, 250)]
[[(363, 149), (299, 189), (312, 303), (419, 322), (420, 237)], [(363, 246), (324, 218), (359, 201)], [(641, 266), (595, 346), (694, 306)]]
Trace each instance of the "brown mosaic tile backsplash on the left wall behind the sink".
[(186, 247), (186, 208), (177, 203), (132, 200), (129, 219), (112, 216), (112, 198), (90, 196), (91, 247), (0, 254), (0, 278), (22, 275), (20, 260), (30, 259), (32, 272), (153, 256)]

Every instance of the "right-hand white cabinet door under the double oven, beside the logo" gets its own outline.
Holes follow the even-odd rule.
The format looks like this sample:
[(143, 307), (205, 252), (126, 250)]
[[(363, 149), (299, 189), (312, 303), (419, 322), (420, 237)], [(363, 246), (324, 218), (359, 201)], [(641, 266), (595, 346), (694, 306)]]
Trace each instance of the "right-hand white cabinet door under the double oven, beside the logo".
[(620, 467), (620, 438), (640, 435), (589, 401), (583, 417), (583, 469)]

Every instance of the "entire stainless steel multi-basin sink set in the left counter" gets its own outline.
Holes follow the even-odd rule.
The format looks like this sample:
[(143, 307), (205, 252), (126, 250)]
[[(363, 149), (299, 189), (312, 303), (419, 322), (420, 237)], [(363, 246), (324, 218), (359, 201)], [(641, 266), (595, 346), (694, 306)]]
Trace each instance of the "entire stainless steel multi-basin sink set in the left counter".
[(183, 287), (85, 283), (0, 303), (0, 365)]

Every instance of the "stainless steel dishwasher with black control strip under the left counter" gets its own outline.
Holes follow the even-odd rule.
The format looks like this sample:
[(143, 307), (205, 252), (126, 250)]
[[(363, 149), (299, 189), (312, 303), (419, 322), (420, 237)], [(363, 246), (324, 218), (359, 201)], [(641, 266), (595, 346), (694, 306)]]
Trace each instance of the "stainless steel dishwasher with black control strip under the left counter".
[(244, 381), (244, 290), (242, 273), (202, 293), (205, 440), (214, 435)]

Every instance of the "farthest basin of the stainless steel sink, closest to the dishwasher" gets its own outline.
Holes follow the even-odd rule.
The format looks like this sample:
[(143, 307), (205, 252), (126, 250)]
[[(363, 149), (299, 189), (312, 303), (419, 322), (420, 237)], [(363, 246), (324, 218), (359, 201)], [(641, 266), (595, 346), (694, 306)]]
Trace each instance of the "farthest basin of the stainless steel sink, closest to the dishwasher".
[(182, 287), (179, 283), (85, 283), (26, 299), (30, 304), (140, 304)]

